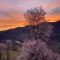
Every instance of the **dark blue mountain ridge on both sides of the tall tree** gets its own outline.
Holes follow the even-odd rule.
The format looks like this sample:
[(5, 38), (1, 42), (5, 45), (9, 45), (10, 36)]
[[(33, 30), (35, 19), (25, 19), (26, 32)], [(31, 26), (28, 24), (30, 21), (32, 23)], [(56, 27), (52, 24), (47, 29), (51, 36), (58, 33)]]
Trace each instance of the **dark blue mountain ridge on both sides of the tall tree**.
[[(48, 22), (45, 22), (48, 23)], [(42, 24), (45, 24), (42, 23)], [(60, 41), (60, 21), (50, 22), (54, 26), (53, 33), (51, 34), (51, 40)], [(31, 33), (32, 26), (18, 27), (15, 29), (10, 29), (6, 31), (0, 31), (0, 42), (5, 40), (19, 40), (24, 41), (27, 39), (32, 39), (33, 34)]]

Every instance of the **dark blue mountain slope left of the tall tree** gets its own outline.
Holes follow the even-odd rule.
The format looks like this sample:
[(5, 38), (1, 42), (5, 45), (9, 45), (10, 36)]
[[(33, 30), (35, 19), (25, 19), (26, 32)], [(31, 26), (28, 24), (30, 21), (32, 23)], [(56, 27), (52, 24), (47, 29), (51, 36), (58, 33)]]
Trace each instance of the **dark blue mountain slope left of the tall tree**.
[(0, 42), (3, 42), (5, 40), (26, 40), (31, 39), (32, 34), (30, 32), (30, 29), (32, 26), (26, 26), (26, 27), (18, 27), (15, 29), (9, 29), (6, 31), (0, 31)]

